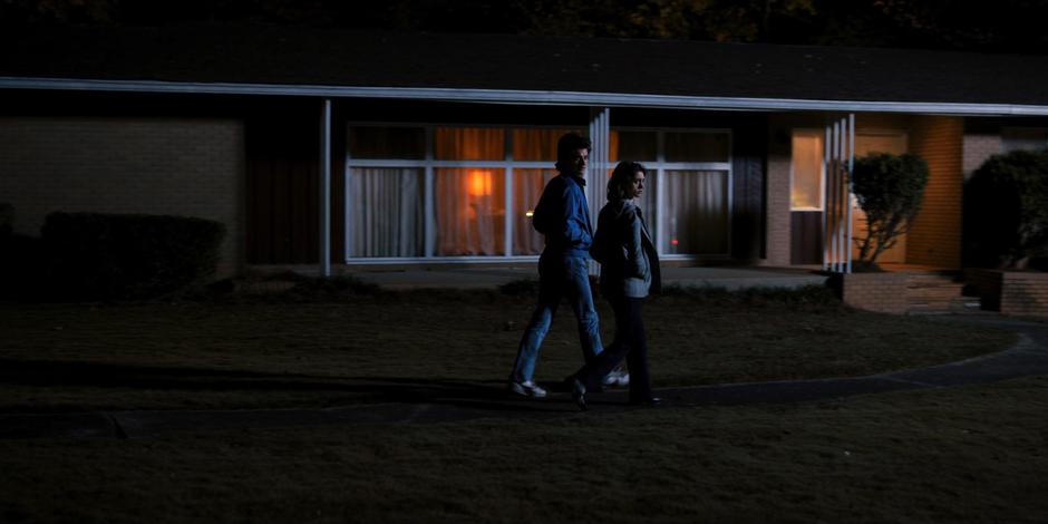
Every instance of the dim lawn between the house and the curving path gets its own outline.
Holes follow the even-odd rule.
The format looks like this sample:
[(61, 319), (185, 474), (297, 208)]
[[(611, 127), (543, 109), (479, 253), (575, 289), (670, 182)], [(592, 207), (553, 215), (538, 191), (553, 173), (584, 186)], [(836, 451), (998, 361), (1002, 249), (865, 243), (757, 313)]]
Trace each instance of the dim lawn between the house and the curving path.
[[(269, 299), (0, 304), (0, 411), (338, 406), (390, 380), (505, 380), (534, 297), (324, 290)], [(316, 291), (316, 290), (313, 290)], [(605, 343), (611, 311), (599, 301)], [(657, 387), (862, 376), (993, 352), (983, 326), (845, 308), (825, 291), (671, 290), (646, 303)], [(536, 379), (582, 361), (563, 307)]]

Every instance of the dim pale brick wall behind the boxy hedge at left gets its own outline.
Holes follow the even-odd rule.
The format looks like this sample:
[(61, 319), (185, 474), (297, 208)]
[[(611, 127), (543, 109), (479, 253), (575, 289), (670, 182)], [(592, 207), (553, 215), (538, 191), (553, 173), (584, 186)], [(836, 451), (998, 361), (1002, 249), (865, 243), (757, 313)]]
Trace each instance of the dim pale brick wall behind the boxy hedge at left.
[(220, 275), (243, 266), (243, 124), (227, 119), (0, 118), (0, 202), (39, 235), (52, 211), (222, 222)]

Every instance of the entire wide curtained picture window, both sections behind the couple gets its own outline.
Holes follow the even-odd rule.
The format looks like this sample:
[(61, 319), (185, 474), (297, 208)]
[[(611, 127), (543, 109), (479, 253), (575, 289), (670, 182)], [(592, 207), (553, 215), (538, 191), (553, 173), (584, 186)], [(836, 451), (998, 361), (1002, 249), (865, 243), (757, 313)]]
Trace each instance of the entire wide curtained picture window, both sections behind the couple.
[[(556, 176), (562, 127), (350, 125), (347, 261), (510, 260), (543, 249), (532, 212)], [(648, 167), (638, 202), (669, 256), (729, 252), (730, 133), (614, 129), (610, 164)], [(592, 175), (591, 175), (592, 176)], [(608, 178), (588, 181), (596, 205)]]

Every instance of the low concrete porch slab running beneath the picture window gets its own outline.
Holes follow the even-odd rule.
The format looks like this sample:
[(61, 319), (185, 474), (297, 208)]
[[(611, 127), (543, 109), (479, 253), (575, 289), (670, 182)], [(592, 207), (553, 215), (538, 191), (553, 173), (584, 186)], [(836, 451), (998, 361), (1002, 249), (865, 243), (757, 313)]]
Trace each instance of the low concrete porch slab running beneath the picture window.
[[(386, 289), (494, 289), (520, 280), (538, 280), (534, 264), (513, 268), (448, 268), (350, 273), (363, 282)], [(823, 285), (827, 276), (804, 270), (778, 268), (662, 268), (664, 285), (745, 288), (800, 288)]]

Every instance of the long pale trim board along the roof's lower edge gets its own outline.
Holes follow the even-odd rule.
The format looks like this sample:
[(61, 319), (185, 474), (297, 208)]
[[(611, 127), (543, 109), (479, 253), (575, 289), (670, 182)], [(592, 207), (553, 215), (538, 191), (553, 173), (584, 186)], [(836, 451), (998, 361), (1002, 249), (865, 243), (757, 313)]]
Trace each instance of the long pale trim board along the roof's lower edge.
[(724, 110), (827, 110), (919, 113), (971, 116), (1048, 116), (1048, 105), (935, 101), (815, 100), (639, 95), (620, 93), (543, 91), (515, 89), (452, 89), (436, 87), (352, 87), (278, 84), (176, 83), (158, 80), (91, 80), (75, 78), (0, 77), (0, 89), (48, 89), (115, 93), (183, 93), (270, 95), (332, 98), (387, 98), (488, 104), (603, 107), (661, 107)]

